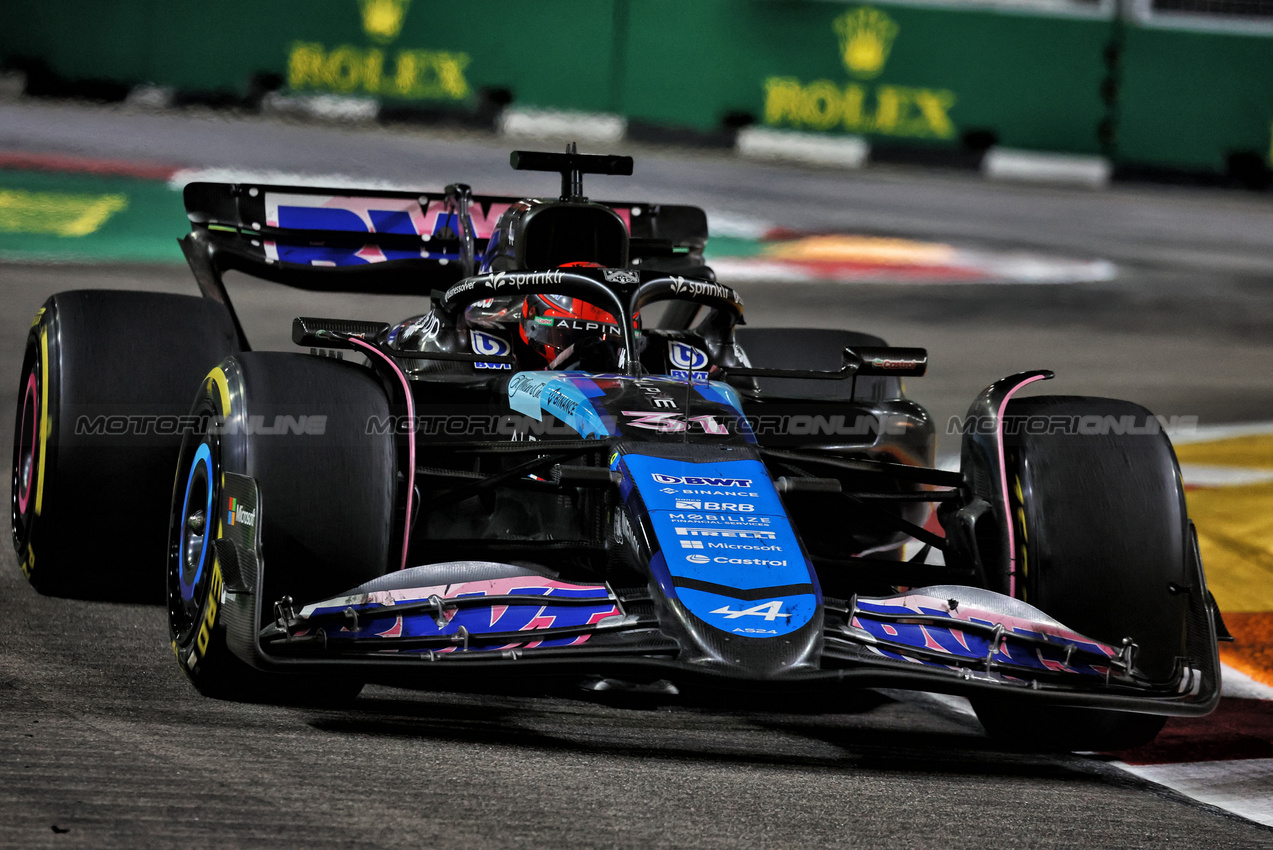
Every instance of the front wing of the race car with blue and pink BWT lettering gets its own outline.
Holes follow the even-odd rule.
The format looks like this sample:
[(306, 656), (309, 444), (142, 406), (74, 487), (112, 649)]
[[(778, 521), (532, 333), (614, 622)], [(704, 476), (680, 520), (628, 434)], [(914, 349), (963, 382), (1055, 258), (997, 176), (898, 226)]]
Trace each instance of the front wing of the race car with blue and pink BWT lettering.
[[(225, 477), (229, 495), (257, 503), (251, 478)], [(228, 528), (216, 554), (230, 649), (280, 673), (416, 686), (521, 674), (665, 678), (740, 690), (895, 687), (1166, 715), (1207, 714), (1220, 699), (1216, 627), (1203, 603), (1190, 611), (1189, 654), (1169, 682), (1137, 674), (1134, 644), (1110, 646), (1021, 601), (960, 585), (825, 599), (817, 665), (749, 678), (737, 668), (680, 660), (681, 648), (659, 629), (648, 590), (466, 561), (402, 570), (297, 608), (290, 599), (267, 603), (255, 592), (264, 569), (255, 529)], [(1197, 556), (1193, 565), (1204, 587)], [(260, 629), (266, 613), (272, 622)], [(770, 616), (765, 606), (732, 613), (738, 620)]]

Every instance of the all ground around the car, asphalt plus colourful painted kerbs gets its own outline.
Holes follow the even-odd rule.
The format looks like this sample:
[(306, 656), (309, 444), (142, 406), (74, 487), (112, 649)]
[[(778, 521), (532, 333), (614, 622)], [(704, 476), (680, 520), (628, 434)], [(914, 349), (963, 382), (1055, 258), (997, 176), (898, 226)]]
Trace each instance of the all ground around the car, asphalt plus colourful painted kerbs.
[[(195, 294), (176, 238), (191, 179), (538, 195), (489, 135), (0, 103), (0, 400), (31, 316), (76, 288)], [(908, 382), (947, 422), (1029, 368), (1125, 397), (1172, 434), (1208, 582), (1236, 641), (1225, 699), (1138, 751), (997, 748), (966, 702), (621, 706), (369, 687), (349, 710), (205, 700), (157, 606), (39, 597), (0, 556), (0, 845), (1273, 846), (1273, 196), (999, 185), (624, 148), (605, 199), (689, 202), (752, 324), (927, 346)], [(340, 182), (337, 182), (340, 181)], [(295, 314), (393, 321), (411, 298), (228, 279), (248, 337)], [(9, 375), (9, 378), (4, 378)], [(8, 380), (9, 383), (4, 383)], [(192, 388), (193, 392), (193, 388)], [(11, 440), (11, 417), (0, 417)], [(103, 510), (127, 528), (127, 494)], [(127, 557), (103, 541), (102, 569)], [(158, 582), (157, 576), (157, 582)]]

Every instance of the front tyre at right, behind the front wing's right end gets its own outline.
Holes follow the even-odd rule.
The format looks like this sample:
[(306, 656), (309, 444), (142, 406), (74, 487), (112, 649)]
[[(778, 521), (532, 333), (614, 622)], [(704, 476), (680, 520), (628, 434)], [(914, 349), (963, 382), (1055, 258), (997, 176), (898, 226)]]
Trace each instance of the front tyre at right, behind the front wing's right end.
[[(1192, 546), (1171, 443), (1150, 411), (1125, 401), (1041, 396), (1013, 400), (1007, 416), (1022, 425), (1006, 438), (1015, 594), (1111, 646), (1133, 640), (1137, 673), (1170, 681), (1186, 654)], [(1041, 422), (1049, 426), (1034, 428)], [(1132, 747), (1166, 720), (989, 700), (974, 707), (993, 735), (1049, 749)]]

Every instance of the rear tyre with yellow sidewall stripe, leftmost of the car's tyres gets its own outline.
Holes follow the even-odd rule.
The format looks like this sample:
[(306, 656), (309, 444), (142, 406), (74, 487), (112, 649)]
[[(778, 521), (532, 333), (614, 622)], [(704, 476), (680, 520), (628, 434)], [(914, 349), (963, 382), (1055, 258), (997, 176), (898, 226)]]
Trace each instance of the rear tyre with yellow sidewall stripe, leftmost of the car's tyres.
[(36, 313), (18, 383), (13, 543), (37, 590), (159, 599), (190, 388), (238, 350), (209, 299), (81, 290)]

